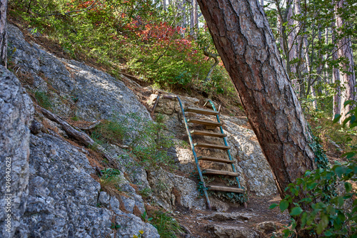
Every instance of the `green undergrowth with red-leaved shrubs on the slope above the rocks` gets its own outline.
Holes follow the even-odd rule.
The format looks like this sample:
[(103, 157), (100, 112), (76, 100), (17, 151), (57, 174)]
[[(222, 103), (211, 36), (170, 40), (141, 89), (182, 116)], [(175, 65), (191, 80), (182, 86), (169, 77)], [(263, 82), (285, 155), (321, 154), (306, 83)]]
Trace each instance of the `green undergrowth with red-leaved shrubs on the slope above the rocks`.
[(236, 98), (223, 64), (205, 82), (216, 52), (207, 27), (195, 36), (177, 23), (176, 9), (158, 1), (9, 1), (9, 14), (28, 29), (60, 45), (59, 51), (95, 63), (107, 73), (133, 73), (168, 90), (203, 90)]

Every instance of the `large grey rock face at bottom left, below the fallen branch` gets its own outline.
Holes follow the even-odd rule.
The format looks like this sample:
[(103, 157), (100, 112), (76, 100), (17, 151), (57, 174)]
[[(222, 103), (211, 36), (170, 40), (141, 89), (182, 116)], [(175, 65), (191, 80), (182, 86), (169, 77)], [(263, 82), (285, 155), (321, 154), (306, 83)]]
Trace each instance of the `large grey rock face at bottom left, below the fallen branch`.
[(121, 212), (115, 197), (100, 192), (86, 155), (60, 138), (31, 135), (29, 171), (29, 196), (15, 237), (129, 238), (139, 230), (159, 237), (151, 224)]

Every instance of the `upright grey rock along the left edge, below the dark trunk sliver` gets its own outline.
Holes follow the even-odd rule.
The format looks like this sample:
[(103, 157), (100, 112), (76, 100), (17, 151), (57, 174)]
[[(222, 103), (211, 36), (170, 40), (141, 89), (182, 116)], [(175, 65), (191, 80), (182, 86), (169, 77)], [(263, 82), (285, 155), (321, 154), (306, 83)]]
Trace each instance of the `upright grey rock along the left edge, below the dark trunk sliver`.
[[(32, 102), (21, 88), (19, 79), (0, 66), (1, 237), (14, 237), (14, 230), (21, 225), (20, 218), (26, 207), (29, 192), (29, 127), (33, 113)], [(6, 178), (9, 181), (6, 181)], [(11, 187), (6, 187), (6, 182), (9, 182)], [(8, 202), (11, 212), (6, 212), (9, 208)], [(8, 214), (11, 214), (11, 217), (8, 218)], [(8, 223), (6, 219), (11, 219), (11, 222)]]

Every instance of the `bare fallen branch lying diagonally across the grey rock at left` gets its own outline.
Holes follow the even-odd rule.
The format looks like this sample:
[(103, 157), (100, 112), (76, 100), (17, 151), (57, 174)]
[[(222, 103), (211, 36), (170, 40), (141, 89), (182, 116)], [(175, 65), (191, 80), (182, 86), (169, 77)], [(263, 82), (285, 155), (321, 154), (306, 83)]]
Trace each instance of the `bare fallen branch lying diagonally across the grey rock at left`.
[(49, 110), (46, 110), (44, 108), (41, 108), (39, 105), (36, 105), (36, 108), (38, 108), (42, 114), (46, 118), (49, 118), (49, 120), (52, 120), (56, 123), (59, 123), (61, 125), (62, 129), (69, 135), (71, 138), (74, 138), (78, 140), (79, 142), (83, 143), (86, 145), (86, 147), (92, 146), (96, 148), (100, 152), (100, 154), (105, 157), (109, 162), (112, 162), (114, 165), (117, 165), (116, 160), (114, 157), (109, 155), (101, 145), (98, 145), (92, 138), (89, 137), (86, 133), (83, 133), (79, 130), (76, 130), (74, 127), (69, 125), (65, 120), (60, 118), (58, 115), (55, 115), (54, 113), (51, 113)]

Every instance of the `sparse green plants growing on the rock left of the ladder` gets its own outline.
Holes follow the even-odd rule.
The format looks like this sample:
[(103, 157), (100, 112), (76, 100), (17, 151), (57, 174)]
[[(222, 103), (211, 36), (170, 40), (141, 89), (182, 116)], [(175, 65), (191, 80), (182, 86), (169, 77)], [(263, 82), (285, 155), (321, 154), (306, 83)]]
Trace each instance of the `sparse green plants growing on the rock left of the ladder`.
[(161, 115), (156, 115), (155, 121), (140, 118), (135, 113), (116, 115), (94, 128), (91, 138), (100, 145), (127, 145), (129, 155), (145, 170), (174, 169), (174, 160), (167, 153), (175, 145), (174, 138), (166, 135), (162, 120)]

